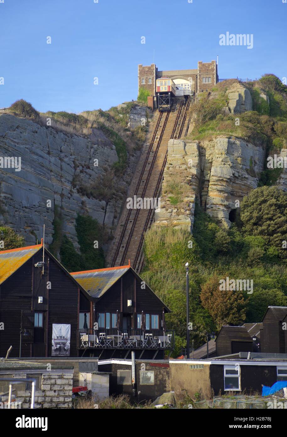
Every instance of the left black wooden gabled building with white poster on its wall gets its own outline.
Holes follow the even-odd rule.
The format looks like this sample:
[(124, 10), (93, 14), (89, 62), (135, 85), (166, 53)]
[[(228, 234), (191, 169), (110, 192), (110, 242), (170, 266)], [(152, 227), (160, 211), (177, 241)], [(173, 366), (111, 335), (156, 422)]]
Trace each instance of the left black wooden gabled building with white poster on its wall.
[(0, 357), (10, 345), (10, 357), (19, 357), (20, 342), (22, 357), (77, 356), (79, 311), (87, 305), (89, 294), (41, 244), (0, 252)]

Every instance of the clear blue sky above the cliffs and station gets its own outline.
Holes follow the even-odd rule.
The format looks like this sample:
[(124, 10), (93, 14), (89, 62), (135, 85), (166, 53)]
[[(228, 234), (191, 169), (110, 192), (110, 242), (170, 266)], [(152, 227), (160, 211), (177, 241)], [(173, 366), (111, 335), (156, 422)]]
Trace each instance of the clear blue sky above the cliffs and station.
[[(150, 65), (154, 52), (159, 70), (219, 55), (220, 78), (287, 76), (282, 0), (98, 1), (0, 3), (0, 108), (23, 98), (38, 111), (78, 113), (136, 99), (137, 64)], [(227, 31), (253, 34), (253, 49), (220, 46)]]

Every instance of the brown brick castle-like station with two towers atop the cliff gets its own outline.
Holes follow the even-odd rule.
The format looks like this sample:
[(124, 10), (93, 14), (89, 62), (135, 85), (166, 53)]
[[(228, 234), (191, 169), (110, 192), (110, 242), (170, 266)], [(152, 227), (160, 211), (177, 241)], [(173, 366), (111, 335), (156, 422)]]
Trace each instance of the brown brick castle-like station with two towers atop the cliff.
[(156, 92), (156, 80), (161, 77), (172, 79), (179, 89), (198, 91), (211, 90), (218, 82), (216, 61), (198, 62), (198, 68), (193, 70), (158, 71), (155, 64), (138, 66), (138, 87), (144, 87), (151, 96)]

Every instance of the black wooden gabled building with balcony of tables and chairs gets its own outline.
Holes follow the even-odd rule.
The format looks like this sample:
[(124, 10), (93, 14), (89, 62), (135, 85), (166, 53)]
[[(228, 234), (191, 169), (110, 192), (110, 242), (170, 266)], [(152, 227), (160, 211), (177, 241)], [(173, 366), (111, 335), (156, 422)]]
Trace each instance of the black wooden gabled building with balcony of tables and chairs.
[(174, 348), (174, 333), (165, 326), (170, 310), (130, 264), (72, 276), (94, 302), (91, 314), (80, 313), (82, 354), (99, 350), (99, 357), (127, 357), (133, 349), (140, 358), (163, 358), (164, 350)]

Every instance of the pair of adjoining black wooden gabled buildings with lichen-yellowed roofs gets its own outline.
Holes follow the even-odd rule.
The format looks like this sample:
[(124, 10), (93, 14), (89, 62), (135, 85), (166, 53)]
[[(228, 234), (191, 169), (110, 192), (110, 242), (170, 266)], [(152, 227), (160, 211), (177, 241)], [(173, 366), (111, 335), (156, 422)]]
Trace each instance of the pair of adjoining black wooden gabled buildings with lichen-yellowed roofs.
[(42, 244), (0, 252), (0, 357), (163, 358), (169, 311), (130, 265), (70, 274)]

